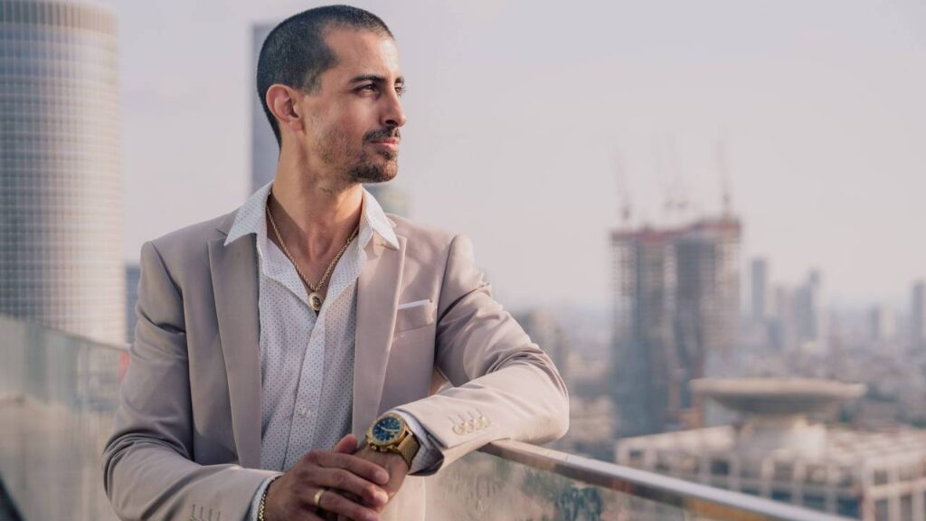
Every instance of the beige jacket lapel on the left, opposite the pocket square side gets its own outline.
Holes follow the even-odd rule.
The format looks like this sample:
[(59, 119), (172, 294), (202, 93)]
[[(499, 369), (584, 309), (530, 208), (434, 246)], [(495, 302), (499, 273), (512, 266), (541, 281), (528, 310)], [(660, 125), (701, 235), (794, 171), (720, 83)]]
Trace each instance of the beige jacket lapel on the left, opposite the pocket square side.
[[(227, 230), (225, 230), (227, 232)], [(238, 461), (260, 466), (260, 340), (257, 314), (257, 249), (254, 235), (224, 246), (209, 242), (212, 288), (232, 406)]]

